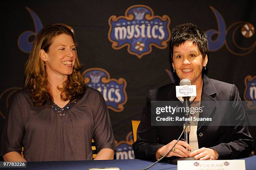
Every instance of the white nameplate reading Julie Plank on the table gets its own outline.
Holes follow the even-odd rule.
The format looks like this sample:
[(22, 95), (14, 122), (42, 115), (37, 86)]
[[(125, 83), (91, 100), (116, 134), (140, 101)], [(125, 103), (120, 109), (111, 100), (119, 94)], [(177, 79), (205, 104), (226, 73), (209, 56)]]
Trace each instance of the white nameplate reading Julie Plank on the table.
[(177, 170), (245, 170), (245, 160), (178, 160)]

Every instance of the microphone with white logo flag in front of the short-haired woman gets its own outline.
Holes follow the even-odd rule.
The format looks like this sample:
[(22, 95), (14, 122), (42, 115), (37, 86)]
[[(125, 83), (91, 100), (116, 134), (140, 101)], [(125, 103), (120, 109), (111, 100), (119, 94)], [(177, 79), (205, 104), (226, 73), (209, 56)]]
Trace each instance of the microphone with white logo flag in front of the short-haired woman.
[[(176, 97), (183, 102), (183, 107), (185, 108), (185, 117), (187, 118), (187, 123), (183, 123), (184, 129), (184, 141), (189, 144), (189, 133), (190, 133), (190, 101), (193, 101), (197, 96), (196, 85), (191, 85), (189, 79), (182, 79), (179, 82), (179, 86), (176, 86)], [(189, 108), (189, 109), (187, 109)]]

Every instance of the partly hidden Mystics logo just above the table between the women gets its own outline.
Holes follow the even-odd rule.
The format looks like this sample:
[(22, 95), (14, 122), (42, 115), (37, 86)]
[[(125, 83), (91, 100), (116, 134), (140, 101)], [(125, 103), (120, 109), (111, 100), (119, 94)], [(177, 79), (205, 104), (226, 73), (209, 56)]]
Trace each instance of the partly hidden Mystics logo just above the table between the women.
[(126, 135), (125, 140), (118, 142), (115, 140), (115, 150), (116, 150), (116, 159), (124, 160), (124, 159), (134, 159), (133, 148), (133, 132), (129, 132)]

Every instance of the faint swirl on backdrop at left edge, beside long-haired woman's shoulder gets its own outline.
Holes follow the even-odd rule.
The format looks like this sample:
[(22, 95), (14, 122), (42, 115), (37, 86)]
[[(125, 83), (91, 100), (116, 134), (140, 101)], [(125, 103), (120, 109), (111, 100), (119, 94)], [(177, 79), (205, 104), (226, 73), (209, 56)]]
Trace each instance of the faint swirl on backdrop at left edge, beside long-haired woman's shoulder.
[(4, 108), (5, 110), (0, 110), (0, 116), (3, 117), (3, 119), (6, 118), (5, 112), (8, 110), (10, 99), (12, 98), (13, 93), (20, 90), (22, 87), (10, 87), (2, 92), (0, 95), (0, 102), (1, 104), (4, 104), (4, 106), (0, 108)]

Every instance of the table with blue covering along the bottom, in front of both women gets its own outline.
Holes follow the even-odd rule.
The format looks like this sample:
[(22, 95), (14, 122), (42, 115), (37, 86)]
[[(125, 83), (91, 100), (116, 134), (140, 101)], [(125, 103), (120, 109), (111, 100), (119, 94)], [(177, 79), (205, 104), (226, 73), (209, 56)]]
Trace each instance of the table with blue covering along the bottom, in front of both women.
[[(256, 156), (244, 158), (246, 170), (256, 170)], [(151, 165), (151, 161), (146, 160), (84, 160), (84, 161), (56, 161), (56, 162), (31, 162), (27, 163), (27, 168), (17, 168), (18, 170), (88, 170), (89, 168), (118, 167), (120, 170), (140, 170)], [(13, 170), (14, 168), (8, 168)], [(15, 168), (16, 169), (16, 168)], [(188, 167), (189, 169), (189, 167)], [(157, 163), (149, 170), (177, 170), (177, 165), (169, 163)]]

